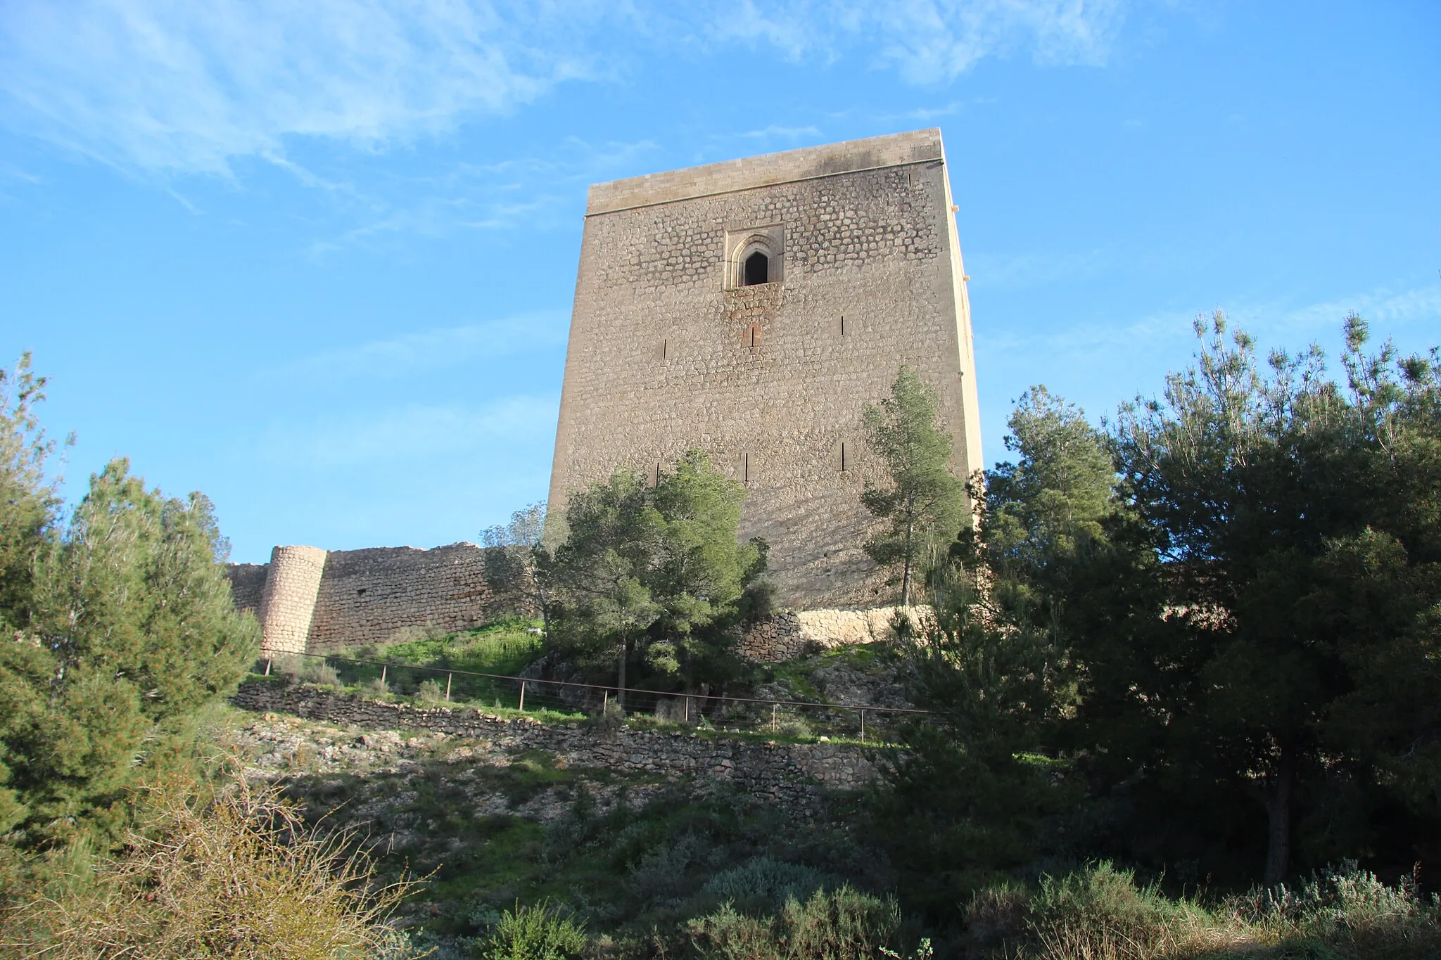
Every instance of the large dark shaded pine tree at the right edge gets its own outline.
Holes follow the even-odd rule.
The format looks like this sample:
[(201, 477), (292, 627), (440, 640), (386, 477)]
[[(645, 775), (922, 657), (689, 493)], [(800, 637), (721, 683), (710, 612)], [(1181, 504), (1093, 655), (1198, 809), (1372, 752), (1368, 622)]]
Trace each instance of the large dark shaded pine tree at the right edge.
[[(1133, 596), (1074, 592), (1099, 615), (1076, 628), (1079, 718), (1130, 754), (1123, 776), (1251, 797), (1274, 884), (1301, 805), (1357, 845), (1386, 782), (1441, 812), (1441, 371), (1434, 351), (1365, 356), (1355, 317), (1344, 386), (1316, 348), (1267, 370), (1221, 315), (1202, 332), (1197, 364), (1117, 425), (1140, 551)], [(1313, 856), (1329, 843), (1307, 841)]]

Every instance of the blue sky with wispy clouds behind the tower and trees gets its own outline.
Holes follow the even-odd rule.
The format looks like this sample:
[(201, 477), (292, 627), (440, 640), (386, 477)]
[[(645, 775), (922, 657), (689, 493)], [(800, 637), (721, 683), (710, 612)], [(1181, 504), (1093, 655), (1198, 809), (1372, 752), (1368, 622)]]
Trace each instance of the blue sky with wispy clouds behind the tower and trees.
[(233, 543), (545, 497), (586, 184), (938, 125), (986, 453), (1221, 308), (1441, 341), (1441, 4), (4, 0), (0, 366)]

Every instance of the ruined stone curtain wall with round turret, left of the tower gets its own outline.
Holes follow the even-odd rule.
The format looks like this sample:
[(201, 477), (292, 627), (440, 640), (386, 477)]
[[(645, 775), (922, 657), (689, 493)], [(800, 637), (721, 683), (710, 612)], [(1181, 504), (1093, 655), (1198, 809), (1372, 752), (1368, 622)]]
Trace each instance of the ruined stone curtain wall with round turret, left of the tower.
[[(262, 649), (324, 653), (484, 623), (499, 606), (484, 554), (471, 543), (329, 553), (275, 547), (268, 564), (229, 564), (226, 576), (236, 609), (255, 610), (261, 622)], [(506, 609), (526, 612), (523, 600), (507, 600)]]

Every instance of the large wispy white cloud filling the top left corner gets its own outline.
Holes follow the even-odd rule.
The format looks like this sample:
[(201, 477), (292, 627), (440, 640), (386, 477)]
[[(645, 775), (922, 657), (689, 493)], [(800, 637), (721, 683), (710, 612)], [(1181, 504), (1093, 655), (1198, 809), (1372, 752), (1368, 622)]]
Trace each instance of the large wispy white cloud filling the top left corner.
[(448, 0), (13, 0), (0, 89), (13, 122), (107, 163), (228, 174), (288, 137), (375, 148), (526, 104), (595, 72), (598, 16)]

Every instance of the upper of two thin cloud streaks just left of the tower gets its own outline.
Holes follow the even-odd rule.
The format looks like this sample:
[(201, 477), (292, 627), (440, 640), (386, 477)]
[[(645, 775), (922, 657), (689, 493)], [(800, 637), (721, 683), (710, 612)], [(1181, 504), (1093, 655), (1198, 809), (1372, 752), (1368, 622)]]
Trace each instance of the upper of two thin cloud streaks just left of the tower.
[(365, 377), (389, 380), (457, 367), (481, 357), (501, 357), (565, 344), (566, 317), (559, 311), (444, 327), (388, 340), (327, 350), (261, 373), (265, 379), (336, 383)]

